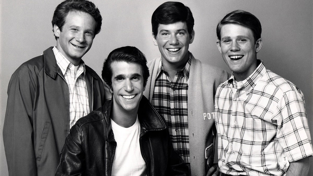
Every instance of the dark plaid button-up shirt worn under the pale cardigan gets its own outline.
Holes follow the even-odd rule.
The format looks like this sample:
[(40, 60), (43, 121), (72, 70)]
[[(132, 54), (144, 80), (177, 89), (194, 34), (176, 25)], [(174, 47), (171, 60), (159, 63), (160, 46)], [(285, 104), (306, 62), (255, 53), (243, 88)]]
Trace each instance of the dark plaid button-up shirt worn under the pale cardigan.
[(161, 60), (152, 97), (152, 105), (167, 122), (173, 148), (186, 163), (189, 163), (187, 100), (190, 64), (189, 53), (185, 67), (177, 71), (172, 81)]

